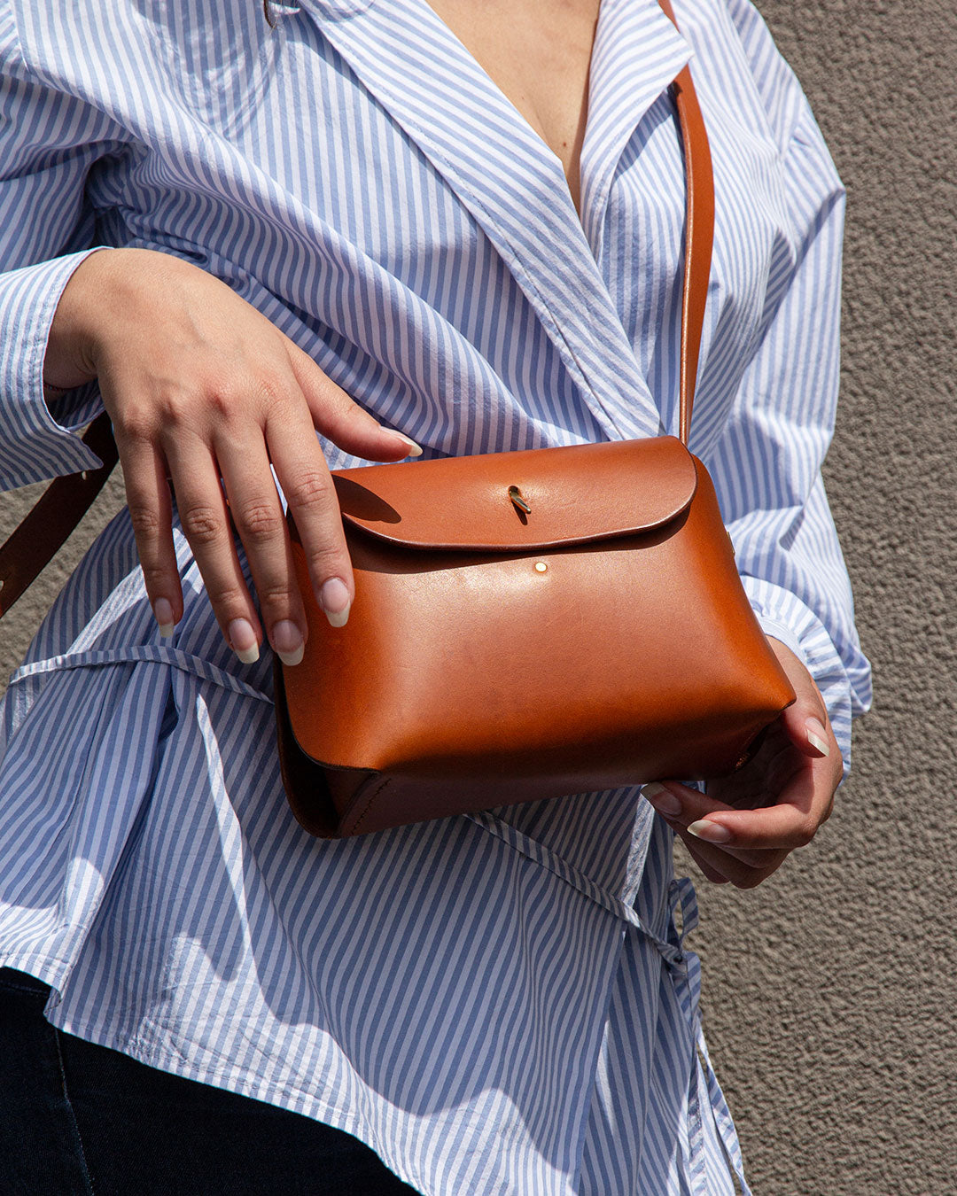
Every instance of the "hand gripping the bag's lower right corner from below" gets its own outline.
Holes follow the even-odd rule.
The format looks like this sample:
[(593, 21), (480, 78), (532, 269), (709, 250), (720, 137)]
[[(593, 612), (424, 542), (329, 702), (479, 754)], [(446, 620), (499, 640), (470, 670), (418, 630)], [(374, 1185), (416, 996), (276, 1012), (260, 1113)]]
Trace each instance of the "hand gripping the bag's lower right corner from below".
[(830, 817), (843, 770), (821, 690), (790, 648), (767, 639), (798, 697), (752, 758), (708, 781), (707, 793), (670, 780), (642, 789), (708, 880), (738, 889), (760, 885), (790, 852), (811, 842)]

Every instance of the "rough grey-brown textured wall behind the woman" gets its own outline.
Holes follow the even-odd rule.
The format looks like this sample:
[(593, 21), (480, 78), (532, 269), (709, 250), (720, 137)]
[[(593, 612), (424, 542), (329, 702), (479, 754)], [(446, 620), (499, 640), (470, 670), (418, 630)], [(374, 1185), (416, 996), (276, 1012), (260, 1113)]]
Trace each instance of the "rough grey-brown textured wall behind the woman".
[[(876, 704), (816, 841), (752, 892), (701, 878), (691, 942), (757, 1196), (946, 1196), (957, 1191), (957, 18), (952, 0), (760, 7), (849, 193), (843, 390), (825, 472)], [(28, 498), (0, 500), (0, 535)], [(114, 480), (5, 620), (4, 676), (121, 502)], [(679, 865), (696, 875), (687, 856)]]

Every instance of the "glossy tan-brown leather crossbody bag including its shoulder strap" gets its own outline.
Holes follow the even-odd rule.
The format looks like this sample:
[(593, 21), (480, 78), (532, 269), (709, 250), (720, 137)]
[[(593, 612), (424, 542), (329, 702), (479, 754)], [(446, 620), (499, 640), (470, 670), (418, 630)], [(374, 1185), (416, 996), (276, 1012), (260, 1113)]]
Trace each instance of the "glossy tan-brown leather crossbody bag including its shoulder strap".
[[(311, 598), (289, 521), (309, 636), (299, 665), (275, 659), (276, 727), (289, 805), (313, 835), (726, 775), (794, 701), (685, 447), (714, 197), (687, 67), (675, 92), (679, 435), (335, 471), (355, 574), (342, 628)], [(87, 439), (104, 469), (57, 478), (0, 549), (0, 614), (109, 472), (105, 416)]]

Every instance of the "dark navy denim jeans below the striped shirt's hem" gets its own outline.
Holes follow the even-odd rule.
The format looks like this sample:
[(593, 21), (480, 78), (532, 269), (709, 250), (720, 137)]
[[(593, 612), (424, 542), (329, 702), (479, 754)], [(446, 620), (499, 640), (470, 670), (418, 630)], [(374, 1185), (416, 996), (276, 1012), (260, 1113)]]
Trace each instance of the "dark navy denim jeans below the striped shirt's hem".
[(65, 1035), (0, 968), (2, 1196), (415, 1196), (359, 1139)]

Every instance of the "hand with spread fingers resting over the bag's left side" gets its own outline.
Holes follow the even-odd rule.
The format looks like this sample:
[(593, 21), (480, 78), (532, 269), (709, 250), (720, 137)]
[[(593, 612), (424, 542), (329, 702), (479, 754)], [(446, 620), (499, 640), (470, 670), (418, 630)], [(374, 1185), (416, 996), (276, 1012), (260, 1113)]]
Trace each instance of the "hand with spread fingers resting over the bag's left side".
[(316, 600), (334, 627), (346, 622), (352, 566), (316, 432), (368, 460), (419, 456), (414, 441), (380, 427), (225, 282), (154, 250), (91, 254), (63, 291), (44, 383), (54, 393), (93, 378), (112, 420), (146, 591), (164, 634), (183, 615), (169, 477), (227, 643), (251, 663), (262, 642), (232, 518), (269, 642), (285, 663), (301, 659), (305, 611), (270, 462)]

